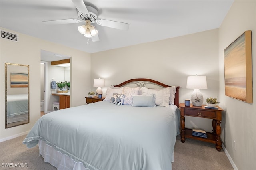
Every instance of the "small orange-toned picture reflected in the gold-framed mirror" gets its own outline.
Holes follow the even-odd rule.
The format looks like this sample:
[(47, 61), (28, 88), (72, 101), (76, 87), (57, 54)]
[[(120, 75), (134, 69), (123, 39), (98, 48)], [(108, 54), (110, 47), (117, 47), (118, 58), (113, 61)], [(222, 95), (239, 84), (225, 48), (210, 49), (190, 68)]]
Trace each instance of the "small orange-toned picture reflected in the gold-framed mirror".
[(28, 87), (28, 74), (11, 73), (11, 87)]

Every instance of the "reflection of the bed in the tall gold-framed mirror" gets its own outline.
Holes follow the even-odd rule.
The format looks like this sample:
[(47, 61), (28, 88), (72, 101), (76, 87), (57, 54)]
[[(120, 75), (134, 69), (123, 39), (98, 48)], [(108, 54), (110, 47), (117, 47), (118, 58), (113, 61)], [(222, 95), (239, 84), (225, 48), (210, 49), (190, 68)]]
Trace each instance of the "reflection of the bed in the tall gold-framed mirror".
[(7, 95), (7, 123), (28, 119), (28, 94)]

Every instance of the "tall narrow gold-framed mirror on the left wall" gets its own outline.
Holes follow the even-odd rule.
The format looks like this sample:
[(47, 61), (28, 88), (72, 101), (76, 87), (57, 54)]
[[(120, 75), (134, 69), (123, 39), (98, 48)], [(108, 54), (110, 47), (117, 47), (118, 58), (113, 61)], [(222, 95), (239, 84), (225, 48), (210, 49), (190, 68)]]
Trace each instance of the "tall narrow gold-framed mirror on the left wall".
[(29, 123), (29, 65), (5, 63), (5, 128)]

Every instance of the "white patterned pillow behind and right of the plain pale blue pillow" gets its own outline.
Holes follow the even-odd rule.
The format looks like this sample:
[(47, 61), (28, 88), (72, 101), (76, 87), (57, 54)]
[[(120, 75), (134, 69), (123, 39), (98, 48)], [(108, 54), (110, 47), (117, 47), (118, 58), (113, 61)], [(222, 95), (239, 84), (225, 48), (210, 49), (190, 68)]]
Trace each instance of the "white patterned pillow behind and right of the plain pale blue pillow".
[(148, 89), (142, 87), (142, 95), (155, 95), (155, 103), (157, 106), (169, 107), (170, 90), (165, 89)]

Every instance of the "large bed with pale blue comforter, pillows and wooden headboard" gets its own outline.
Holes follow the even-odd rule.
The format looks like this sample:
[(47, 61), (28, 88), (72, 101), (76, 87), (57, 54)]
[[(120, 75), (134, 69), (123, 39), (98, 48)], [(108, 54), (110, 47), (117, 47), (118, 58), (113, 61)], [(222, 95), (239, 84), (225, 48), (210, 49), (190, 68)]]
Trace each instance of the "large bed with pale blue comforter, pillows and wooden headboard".
[(58, 169), (172, 169), (178, 89), (151, 79), (126, 81), (109, 87), (104, 101), (42, 116), (23, 143), (38, 144), (44, 161)]

